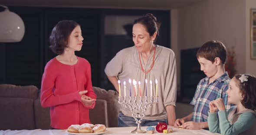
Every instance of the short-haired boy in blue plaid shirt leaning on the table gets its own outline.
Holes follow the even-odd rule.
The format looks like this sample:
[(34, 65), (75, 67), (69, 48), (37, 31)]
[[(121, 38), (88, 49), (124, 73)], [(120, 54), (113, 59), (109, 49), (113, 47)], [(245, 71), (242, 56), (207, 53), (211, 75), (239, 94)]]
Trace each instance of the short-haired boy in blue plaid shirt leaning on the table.
[(226, 109), (231, 107), (227, 102), (226, 94), (230, 82), (230, 77), (224, 68), (226, 47), (219, 41), (206, 42), (197, 51), (197, 60), (201, 71), (207, 77), (197, 84), (197, 90), (190, 102), (194, 105), (194, 111), (184, 118), (177, 119), (174, 127), (182, 125), (184, 129), (207, 129), (209, 103), (217, 98), (223, 99)]

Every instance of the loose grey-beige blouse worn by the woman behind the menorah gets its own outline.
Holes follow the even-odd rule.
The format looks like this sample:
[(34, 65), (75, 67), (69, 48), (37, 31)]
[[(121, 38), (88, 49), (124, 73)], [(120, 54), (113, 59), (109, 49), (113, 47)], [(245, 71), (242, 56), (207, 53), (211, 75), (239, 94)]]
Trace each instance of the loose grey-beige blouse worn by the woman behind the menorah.
[[(140, 53), (141, 55), (141, 53)], [(146, 65), (141, 59), (141, 64), (145, 71), (151, 68), (153, 62), (154, 51), (151, 52), (150, 57)], [(142, 58), (142, 57), (141, 57)], [(123, 81), (126, 82), (126, 96), (130, 96), (130, 84), (128, 82), (129, 78), (131, 80), (141, 82), (141, 93), (142, 96), (146, 94), (146, 83), (145, 79), (148, 80), (147, 83), (147, 95), (151, 95), (150, 90), (150, 80), (153, 82), (153, 96), (156, 95), (156, 84), (155, 79), (158, 80), (158, 96), (159, 102), (154, 104), (152, 107), (148, 107), (145, 112), (144, 119), (157, 120), (166, 119), (167, 114), (165, 107), (168, 105), (175, 106), (176, 102), (176, 62), (174, 52), (170, 48), (165, 48), (163, 46), (156, 45), (156, 52), (154, 58), (154, 66), (149, 73), (144, 73), (141, 70), (141, 64), (139, 60), (139, 52), (135, 46), (130, 48), (125, 48), (119, 51), (116, 56), (108, 62), (105, 67), (105, 74), (110, 77), (117, 76), (121, 81), (121, 96), (124, 96), (124, 85)], [(134, 96), (134, 86), (131, 81), (131, 96)], [(138, 92), (139, 95), (139, 92)], [(128, 108), (121, 106), (121, 112), (125, 116), (132, 117), (132, 113)]]

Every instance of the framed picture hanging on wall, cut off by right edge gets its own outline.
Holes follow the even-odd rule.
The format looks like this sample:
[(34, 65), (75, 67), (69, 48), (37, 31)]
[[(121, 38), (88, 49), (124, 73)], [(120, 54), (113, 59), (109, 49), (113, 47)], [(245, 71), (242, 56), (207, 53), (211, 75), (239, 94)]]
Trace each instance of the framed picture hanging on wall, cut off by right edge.
[(251, 59), (256, 59), (256, 9), (251, 9), (250, 12), (250, 18), (251, 18)]

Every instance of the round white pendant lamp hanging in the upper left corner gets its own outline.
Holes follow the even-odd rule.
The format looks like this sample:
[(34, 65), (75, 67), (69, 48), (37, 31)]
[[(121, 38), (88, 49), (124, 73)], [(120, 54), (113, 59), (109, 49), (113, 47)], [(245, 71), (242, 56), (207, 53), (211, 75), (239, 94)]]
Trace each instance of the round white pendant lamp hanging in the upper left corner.
[(25, 33), (23, 20), (6, 8), (0, 12), (0, 42), (20, 42)]

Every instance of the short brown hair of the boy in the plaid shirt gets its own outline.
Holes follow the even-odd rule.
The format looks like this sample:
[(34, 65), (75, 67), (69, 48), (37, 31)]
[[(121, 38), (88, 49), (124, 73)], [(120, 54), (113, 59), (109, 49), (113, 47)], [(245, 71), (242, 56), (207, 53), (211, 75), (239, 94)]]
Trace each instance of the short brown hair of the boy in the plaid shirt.
[(211, 40), (204, 43), (197, 51), (197, 58), (205, 58), (212, 63), (216, 57), (219, 57), (222, 64), (226, 62), (226, 47), (222, 42), (217, 40)]

